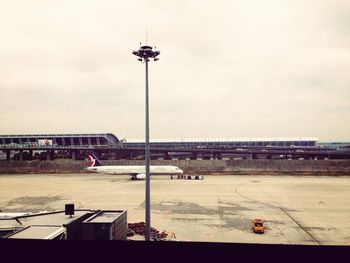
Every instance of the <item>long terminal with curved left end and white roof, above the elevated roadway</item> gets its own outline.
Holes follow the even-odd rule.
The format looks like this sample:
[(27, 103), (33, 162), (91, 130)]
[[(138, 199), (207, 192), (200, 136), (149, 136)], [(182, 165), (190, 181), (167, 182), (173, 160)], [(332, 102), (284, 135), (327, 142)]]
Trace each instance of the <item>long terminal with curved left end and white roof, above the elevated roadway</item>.
[[(234, 147), (289, 147), (315, 146), (316, 138), (218, 138), (218, 139), (156, 139), (150, 140), (151, 147), (161, 148), (234, 148)], [(99, 134), (29, 134), (0, 135), (0, 144), (54, 145), (54, 146), (125, 146), (142, 148), (144, 140), (119, 140), (113, 133)]]

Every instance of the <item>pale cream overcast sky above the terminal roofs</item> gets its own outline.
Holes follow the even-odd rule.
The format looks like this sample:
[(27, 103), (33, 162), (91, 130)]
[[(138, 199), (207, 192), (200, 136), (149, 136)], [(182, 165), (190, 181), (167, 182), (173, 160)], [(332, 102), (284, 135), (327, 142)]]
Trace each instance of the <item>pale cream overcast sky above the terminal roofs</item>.
[(348, 0), (0, 0), (0, 35), (2, 135), (144, 138), (147, 42), (151, 139), (350, 141)]

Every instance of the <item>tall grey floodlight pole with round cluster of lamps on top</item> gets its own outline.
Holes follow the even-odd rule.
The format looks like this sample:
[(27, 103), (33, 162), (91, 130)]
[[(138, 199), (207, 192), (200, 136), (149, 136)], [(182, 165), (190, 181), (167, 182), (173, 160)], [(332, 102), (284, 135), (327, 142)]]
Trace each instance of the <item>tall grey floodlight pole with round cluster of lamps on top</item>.
[(145, 63), (145, 82), (146, 82), (146, 144), (145, 144), (145, 161), (146, 161), (146, 207), (145, 207), (145, 238), (146, 241), (150, 241), (151, 239), (151, 198), (150, 198), (150, 156), (149, 156), (149, 113), (148, 113), (148, 62), (150, 58), (153, 58), (154, 61), (157, 61), (157, 56), (160, 54), (159, 51), (153, 50), (150, 46), (141, 46), (139, 50), (132, 52), (135, 56), (138, 56), (138, 61)]

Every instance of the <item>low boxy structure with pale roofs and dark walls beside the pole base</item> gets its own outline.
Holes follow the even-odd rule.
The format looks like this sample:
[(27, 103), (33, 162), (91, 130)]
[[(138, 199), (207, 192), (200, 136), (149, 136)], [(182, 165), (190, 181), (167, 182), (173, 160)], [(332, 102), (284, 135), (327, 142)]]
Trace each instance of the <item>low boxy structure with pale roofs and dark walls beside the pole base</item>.
[(125, 210), (66, 210), (0, 218), (0, 238), (126, 240)]

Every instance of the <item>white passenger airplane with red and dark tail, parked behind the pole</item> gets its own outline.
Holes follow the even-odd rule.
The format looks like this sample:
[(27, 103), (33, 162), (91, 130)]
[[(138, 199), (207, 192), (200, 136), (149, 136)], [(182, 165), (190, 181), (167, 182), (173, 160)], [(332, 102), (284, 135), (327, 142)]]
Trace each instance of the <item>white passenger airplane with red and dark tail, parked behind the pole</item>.
[[(146, 179), (145, 166), (143, 165), (102, 165), (101, 161), (97, 159), (95, 154), (89, 154), (90, 166), (86, 169), (88, 171), (105, 174), (119, 174), (119, 175), (131, 175), (132, 180)], [(150, 175), (181, 175), (183, 171), (176, 166), (171, 165), (151, 165)]]

